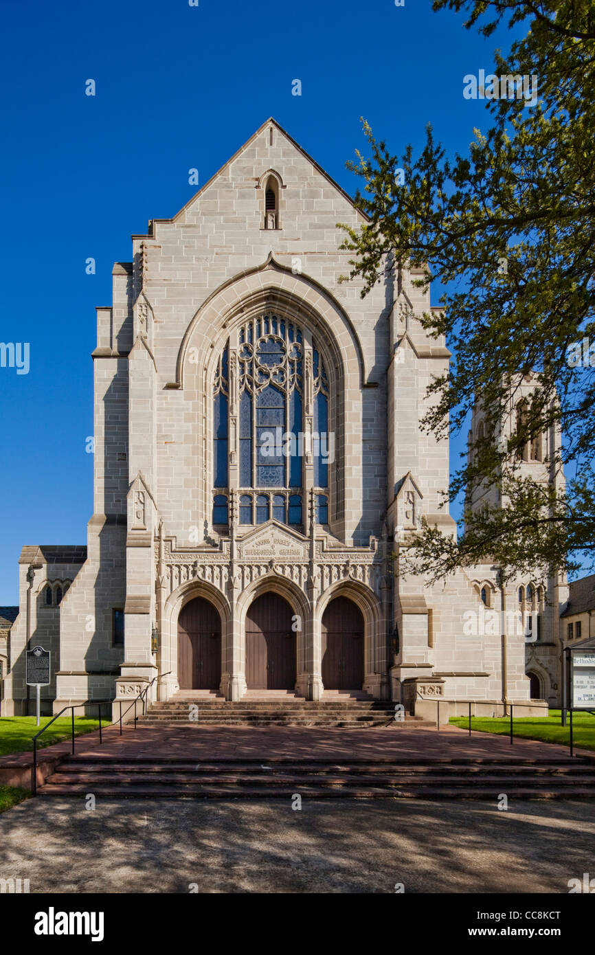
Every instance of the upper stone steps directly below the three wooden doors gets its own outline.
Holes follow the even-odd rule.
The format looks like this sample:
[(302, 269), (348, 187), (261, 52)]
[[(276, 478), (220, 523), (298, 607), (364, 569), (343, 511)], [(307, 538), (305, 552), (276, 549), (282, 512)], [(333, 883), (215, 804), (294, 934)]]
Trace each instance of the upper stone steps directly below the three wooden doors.
[[(367, 693), (326, 691), (318, 702), (285, 690), (250, 691), (231, 703), (210, 695), (177, 694), (166, 703), (154, 703), (141, 722), (187, 723), (199, 726), (311, 726), (340, 729), (382, 727), (394, 722), (394, 704), (374, 700)], [(407, 716), (408, 727), (426, 726)]]

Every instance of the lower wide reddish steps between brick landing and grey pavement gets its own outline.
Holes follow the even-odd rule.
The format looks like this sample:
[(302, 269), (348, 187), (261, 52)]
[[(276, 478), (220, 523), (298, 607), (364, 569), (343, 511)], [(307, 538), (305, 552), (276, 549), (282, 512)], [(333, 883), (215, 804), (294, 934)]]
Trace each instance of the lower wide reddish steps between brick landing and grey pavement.
[(588, 759), (306, 757), (184, 759), (180, 756), (67, 756), (39, 796), (102, 798), (593, 798)]

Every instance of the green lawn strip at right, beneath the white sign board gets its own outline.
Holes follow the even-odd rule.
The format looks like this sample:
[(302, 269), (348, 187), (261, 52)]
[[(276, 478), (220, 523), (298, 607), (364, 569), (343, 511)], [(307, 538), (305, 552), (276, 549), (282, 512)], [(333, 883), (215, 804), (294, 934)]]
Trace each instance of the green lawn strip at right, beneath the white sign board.
[[(513, 709), (514, 714), (514, 709)], [(560, 743), (569, 746), (569, 716), (566, 726), (560, 722), (560, 710), (550, 710), (549, 716), (514, 716), (513, 735), (523, 739), (537, 739), (543, 743)], [(454, 716), (450, 722), (466, 730), (469, 717)], [(574, 745), (578, 749), (595, 751), (595, 716), (587, 712), (574, 712), (572, 716)], [(510, 717), (472, 716), (471, 729), (478, 732), (495, 732), (500, 736), (510, 734)]]

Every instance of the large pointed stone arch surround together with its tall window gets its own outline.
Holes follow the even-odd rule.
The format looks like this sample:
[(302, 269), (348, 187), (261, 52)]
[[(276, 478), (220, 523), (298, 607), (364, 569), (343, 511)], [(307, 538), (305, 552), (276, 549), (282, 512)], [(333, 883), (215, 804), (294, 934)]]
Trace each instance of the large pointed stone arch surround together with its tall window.
[[(259, 520), (251, 522), (282, 520), (284, 510), (283, 520), (300, 523), (306, 532), (308, 492), (313, 488), (317, 520), (328, 523), (339, 539), (353, 538), (362, 500), (362, 418), (357, 403), (364, 367), (351, 321), (329, 293), (269, 256), (260, 269), (221, 286), (199, 309), (182, 340), (178, 368), (179, 381), (170, 387), (183, 393), (188, 416), (200, 433), (197, 454), (204, 462), (201, 486), (193, 495), (201, 508), (198, 526), (217, 525), (223, 533), (235, 491), (244, 516), (248, 506), (254, 516), (261, 508)], [(349, 405), (348, 394), (357, 395)], [(257, 421), (259, 415), (262, 421)], [(270, 479), (265, 479), (265, 462), (256, 460), (254, 446), (249, 450), (250, 435), (254, 441), (261, 426), (273, 432), (281, 427), (296, 438), (303, 433), (303, 461), (274, 457)], [(321, 454), (321, 438), (314, 454), (306, 435), (315, 441), (321, 433), (327, 444)], [(328, 473), (321, 470), (321, 458), (328, 460)], [(266, 499), (242, 500), (247, 493), (240, 492), (259, 488)], [(301, 520), (292, 520), (299, 507)]]

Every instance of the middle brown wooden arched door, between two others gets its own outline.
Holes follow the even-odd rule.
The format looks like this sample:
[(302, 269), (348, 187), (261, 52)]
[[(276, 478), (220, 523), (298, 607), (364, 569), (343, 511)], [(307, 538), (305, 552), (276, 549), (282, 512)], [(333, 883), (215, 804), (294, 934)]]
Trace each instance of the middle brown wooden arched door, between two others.
[(293, 610), (275, 593), (262, 594), (245, 615), (245, 681), (248, 690), (294, 690), (296, 644)]

